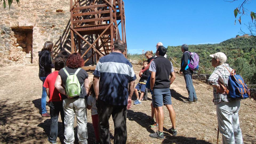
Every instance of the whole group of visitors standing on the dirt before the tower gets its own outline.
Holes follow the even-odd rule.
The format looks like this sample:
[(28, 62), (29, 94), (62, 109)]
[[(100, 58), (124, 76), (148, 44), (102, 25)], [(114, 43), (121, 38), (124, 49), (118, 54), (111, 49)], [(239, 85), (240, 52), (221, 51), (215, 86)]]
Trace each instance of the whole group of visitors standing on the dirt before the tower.
[[(164, 139), (163, 134), (163, 105), (167, 107), (172, 127), (168, 130), (173, 136), (177, 135), (176, 115), (172, 106), (170, 85), (176, 76), (172, 63), (166, 58), (166, 48), (161, 42), (156, 45), (155, 57), (152, 51), (147, 51), (147, 61), (143, 61), (143, 68), (139, 72), (139, 83), (135, 86), (136, 75), (131, 63), (122, 54), (126, 44), (117, 39), (114, 42), (111, 53), (99, 59), (93, 73), (93, 81), (88, 80), (88, 74), (81, 69), (84, 61), (77, 53), (71, 54), (65, 61), (57, 58), (54, 65), (51, 60), (53, 44), (46, 42), (39, 52), (39, 78), (43, 81), (42, 92), (42, 117), (51, 117), (50, 136), (48, 141), (56, 143), (58, 135), (58, 116), (61, 114), (64, 130), (64, 142), (74, 143), (74, 116), (77, 118), (77, 134), (79, 143), (87, 143), (87, 115), (86, 109), (91, 109), (92, 122), (95, 132), (95, 143), (109, 143), (109, 118), (112, 115), (114, 122), (114, 143), (126, 143), (127, 109), (132, 106), (131, 97), (135, 92), (137, 99), (135, 105), (141, 104), (142, 99), (149, 89), (152, 94), (151, 117), (156, 123), (150, 127), (157, 129), (150, 134), (151, 138)], [(180, 74), (183, 74), (188, 99), (185, 103), (198, 102), (192, 82), (193, 71), (188, 64), (191, 60), (188, 45), (181, 47), (183, 56), (181, 59)], [(213, 88), (214, 105), (217, 109), (218, 126), (223, 137), (223, 143), (243, 143), (239, 126), (238, 111), (240, 101), (231, 99), (225, 93), (220, 84), (227, 87), (229, 71), (232, 68), (226, 62), (224, 53), (215, 53), (212, 57), (212, 65), (215, 67), (213, 74), (208, 79)], [(228, 67), (225, 69), (225, 67)], [(51, 68), (55, 71), (51, 73)], [(75, 74), (82, 88), (80, 95), (68, 97), (65, 91), (68, 75)], [(141, 91), (139, 95), (138, 91)], [(46, 97), (49, 97), (50, 114), (45, 109)], [(143, 98), (144, 97), (144, 98)], [(147, 99), (147, 98), (146, 98)], [(145, 100), (146, 100), (145, 99)]]

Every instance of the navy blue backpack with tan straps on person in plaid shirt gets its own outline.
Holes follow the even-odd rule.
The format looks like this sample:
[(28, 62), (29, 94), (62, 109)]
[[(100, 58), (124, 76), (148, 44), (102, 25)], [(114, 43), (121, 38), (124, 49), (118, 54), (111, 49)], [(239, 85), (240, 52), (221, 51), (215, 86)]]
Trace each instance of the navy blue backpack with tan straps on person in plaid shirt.
[[(226, 69), (229, 71), (227, 67)], [(241, 75), (235, 74), (235, 70), (232, 70), (231, 72), (229, 71), (229, 73), (228, 89), (221, 85), (226, 91), (227, 95), (234, 99), (246, 99), (250, 97), (250, 90), (248, 89)]]

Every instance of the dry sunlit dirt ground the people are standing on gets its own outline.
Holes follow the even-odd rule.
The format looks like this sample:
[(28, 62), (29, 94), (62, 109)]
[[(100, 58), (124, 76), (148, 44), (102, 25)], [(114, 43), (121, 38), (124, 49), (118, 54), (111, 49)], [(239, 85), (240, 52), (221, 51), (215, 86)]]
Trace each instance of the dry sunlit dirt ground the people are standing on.
[[(141, 66), (134, 66), (137, 74)], [(8, 66), (0, 68), (0, 143), (48, 143), (50, 134), (50, 118), (41, 117), (42, 82), (38, 78), (39, 67), (36, 65)], [(171, 85), (173, 107), (176, 112), (178, 135), (173, 137), (167, 131), (171, 127), (169, 113), (164, 107), (164, 134), (165, 139), (149, 137), (155, 130), (150, 129), (147, 118), (151, 115), (151, 95), (148, 101), (141, 105), (132, 105), (127, 112), (127, 143), (216, 143), (217, 142), (217, 115), (212, 102), (213, 93), (209, 85), (193, 80), (198, 97), (198, 103), (186, 104), (182, 100), (188, 97), (185, 81), (177, 75)], [(92, 80), (92, 73), (89, 73)], [(136, 80), (136, 84), (139, 77)], [(133, 96), (135, 100), (135, 95)], [(244, 143), (256, 143), (255, 121), (256, 101), (246, 99), (241, 101), (239, 111), (240, 125)], [(48, 105), (48, 104), (47, 104)], [(49, 112), (49, 107), (46, 107)], [(91, 122), (90, 110), (88, 118), (88, 142), (95, 141)], [(61, 128), (59, 118), (59, 128)], [(75, 135), (77, 125), (74, 125)], [(63, 141), (63, 131), (59, 131), (58, 143)], [(113, 143), (114, 124), (110, 118), (110, 135)], [(219, 136), (222, 143), (222, 136)], [(75, 142), (77, 143), (77, 136)]]

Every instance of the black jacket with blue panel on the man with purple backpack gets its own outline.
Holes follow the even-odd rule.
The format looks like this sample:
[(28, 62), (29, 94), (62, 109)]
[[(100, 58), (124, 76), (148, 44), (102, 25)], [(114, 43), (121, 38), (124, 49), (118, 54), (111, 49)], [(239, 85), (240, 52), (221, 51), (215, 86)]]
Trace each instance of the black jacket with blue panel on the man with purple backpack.
[(184, 52), (181, 58), (181, 70), (183, 74), (193, 74), (193, 70), (190, 70), (188, 64), (191, 61), (190, 53)]

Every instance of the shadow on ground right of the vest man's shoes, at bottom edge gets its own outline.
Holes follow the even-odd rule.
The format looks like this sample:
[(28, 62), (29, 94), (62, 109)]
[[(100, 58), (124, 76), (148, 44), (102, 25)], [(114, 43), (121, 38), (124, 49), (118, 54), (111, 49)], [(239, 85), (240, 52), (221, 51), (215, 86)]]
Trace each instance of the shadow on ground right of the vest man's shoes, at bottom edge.
[[(164, 130), (165, 131), (165, 130)], [(207, 142), (205, 140), (192, 138), (192, 137), (183, 137), (183, 136), (172, 136), (168, 132), (164, 132), (165, 139), (162, 141), (162, 144), (191, 144), (191, 143), (197, 143), (197, 144), (210, 144), (210, 142)], [(179, 135), (179, 131), (178, 131)]]

